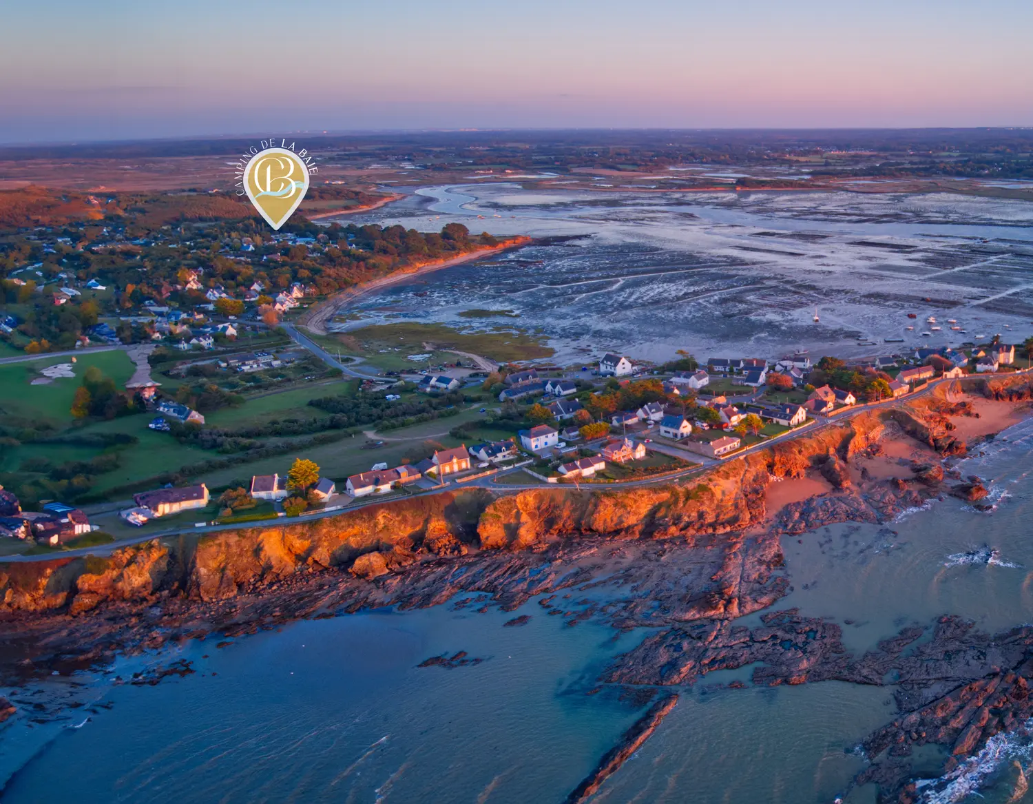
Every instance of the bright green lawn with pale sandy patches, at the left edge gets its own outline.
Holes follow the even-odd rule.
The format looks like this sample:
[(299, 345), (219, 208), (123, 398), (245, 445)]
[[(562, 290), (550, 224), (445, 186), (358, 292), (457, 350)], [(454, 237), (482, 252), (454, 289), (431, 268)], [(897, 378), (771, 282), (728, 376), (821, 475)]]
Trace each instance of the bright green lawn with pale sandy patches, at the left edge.
[(43, 385), (30, 384), (39, 370), (70, 358), (46, 358), (0, 366), (0, 412), (27, 419), (46, 419), (56, 425), (71, 422), (71, 400), (90, 366), (96, 366), (123, 388), (132, 376), (132, 361), (121, 349), (75, 355), (74, 376), (55, 379)]

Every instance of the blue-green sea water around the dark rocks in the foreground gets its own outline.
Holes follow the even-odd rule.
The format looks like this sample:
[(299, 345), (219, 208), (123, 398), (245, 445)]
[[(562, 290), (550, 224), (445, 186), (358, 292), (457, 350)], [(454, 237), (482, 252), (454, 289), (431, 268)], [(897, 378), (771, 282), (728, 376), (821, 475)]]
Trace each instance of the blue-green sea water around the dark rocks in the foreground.
[[(832, 618), (854, 652), (942, 614), (989, 631), (1033, 621), (1031, 450), (1027, 422), (962, 463), (987, 478), (990, 513), (945, 497), (882, 526), (786, 537), (793, 590), (773, 610)], [(995, 560), (980, 554), (989, 549)], [(213, 636), (149, 657), (187, 658), (196, 670), (156, 686), (114, 684), (116, 668), (87, 679), (89, 695), (111, 708), (79, 710), (28, 761), (5, 733), (0, 760), (20, 768), (3, 800), (561, 801), (641, 714), (590, 692), (644, 631), (571, 627), (544, 611), (535, 600), (516, 612), (445, 605), (303, 621), (221, 648)], [(526, 625), (504, 626), (521, 614), (531, 615)], [(459, 651), (481, 661), (417, 668)], [(750, 670), (680, 689), (678, 707), (598, 800), (821, 804), (849, 790), (848, 802), (873, 802), (874, 790), (850, 790), (850, 780), (865, 767), (858, 743), (895, 717), (893, 688), (726, 686), (749, 682)], [(935, 777), (942, 759), (928, 749), (916, 770)], [(930, 801), (976, 788), (1006, 801), (1014, 759), (1028, 764), (1027, 747), (1002, 736), (947, 798)]]

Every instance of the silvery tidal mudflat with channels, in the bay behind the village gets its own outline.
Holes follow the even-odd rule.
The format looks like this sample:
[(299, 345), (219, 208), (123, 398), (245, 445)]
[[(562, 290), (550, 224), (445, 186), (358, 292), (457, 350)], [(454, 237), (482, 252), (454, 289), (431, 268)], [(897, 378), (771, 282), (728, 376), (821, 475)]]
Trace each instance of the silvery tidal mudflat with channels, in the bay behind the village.
[[(539, 242), (364, 297), (351, 311), (362, 319), (339, 331), (399, 318), (520, 328), (542, 333), (567, 362), (606, 349), (652, 360), (678, 349), (862, 355), (1033, 334), (1033, 207), (1024, 202), (496, 184), (422, 188), (365, 220), (458, 221)], [(470, 309), (519, 317), (460, 315)]]

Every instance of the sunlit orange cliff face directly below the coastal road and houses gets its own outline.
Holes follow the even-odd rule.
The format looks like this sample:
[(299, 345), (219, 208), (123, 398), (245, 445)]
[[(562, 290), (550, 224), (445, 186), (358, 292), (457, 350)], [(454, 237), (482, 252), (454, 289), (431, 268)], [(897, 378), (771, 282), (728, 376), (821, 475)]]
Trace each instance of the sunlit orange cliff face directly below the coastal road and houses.
[(701, 545), (703, 537), (764, 523), (764, 494), (773, 478), (803, 477), (815, 467), (843, 472), (878, 442), (885, 427), (878, 415), (857, 415), (731, 460), (684, 486), (514, 494), (471, 489), (310, 522), (182, 535), (106, 557), (9, 563), (0, 569), (0, 610), (17, 618), (32, 612), (76, 615), (102, 602), (169, 596), (212, 602), (316, 573), (347, 570), (347, 578), (373, 580), (427, 562), (540, 553), (582, 539), (679, 538)]

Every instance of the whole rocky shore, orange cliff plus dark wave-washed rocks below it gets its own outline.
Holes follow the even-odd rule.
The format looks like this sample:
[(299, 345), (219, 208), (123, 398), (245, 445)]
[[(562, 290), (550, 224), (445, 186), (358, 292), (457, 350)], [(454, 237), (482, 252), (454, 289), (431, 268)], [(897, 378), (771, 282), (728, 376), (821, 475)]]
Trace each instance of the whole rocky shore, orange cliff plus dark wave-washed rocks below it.
[[(305, 524), (155, 540), (108, 558), (6, 564), (0, 673), (18, 685), (104, 666), (119, 652), (300, 618), (449, 601), (512, 611), (537, 598), (543, 614), (568, 627), (594, 619), (656, 629), (598, 680), (632, 697), (754, 662), (762, 663), (753, 683), (763, 685), (881, 685), (896, 674), (900, 717), (865, 741), (872, 764), (858, 781), (877, 782), (882, 801), (915, 801), (906, 759), (912, 746), (947, 746), (949, 769), (1033, 714), (1024, 697), (1033, 633), (984, 635), (944, 618), (920, 645), (926, 630), (905, 629), (854, 657), (829, 621), (791, 611), (764, 614), (760, 628), (733, 621), (771, 609), (789, 590), (783, 535), (837, 522), (887, 523), (947, 494), (979, 504), (979, 478), (944, 468), (941, 459), (966, 452), (956, 423), (978, 415), (966, 390), (1007, 404), (1033, 396), (1028, 380), (994, 382), (951, 383), (921, 405), (860, 413), (686, 486), (449, 492)], [(894, 457), (902, 442), (925, 451), (920, 460)], [(774, 484), (808, 477), (829, 491), (768, 509)], [(457, 656), (428, 662), (472, 661)]]

